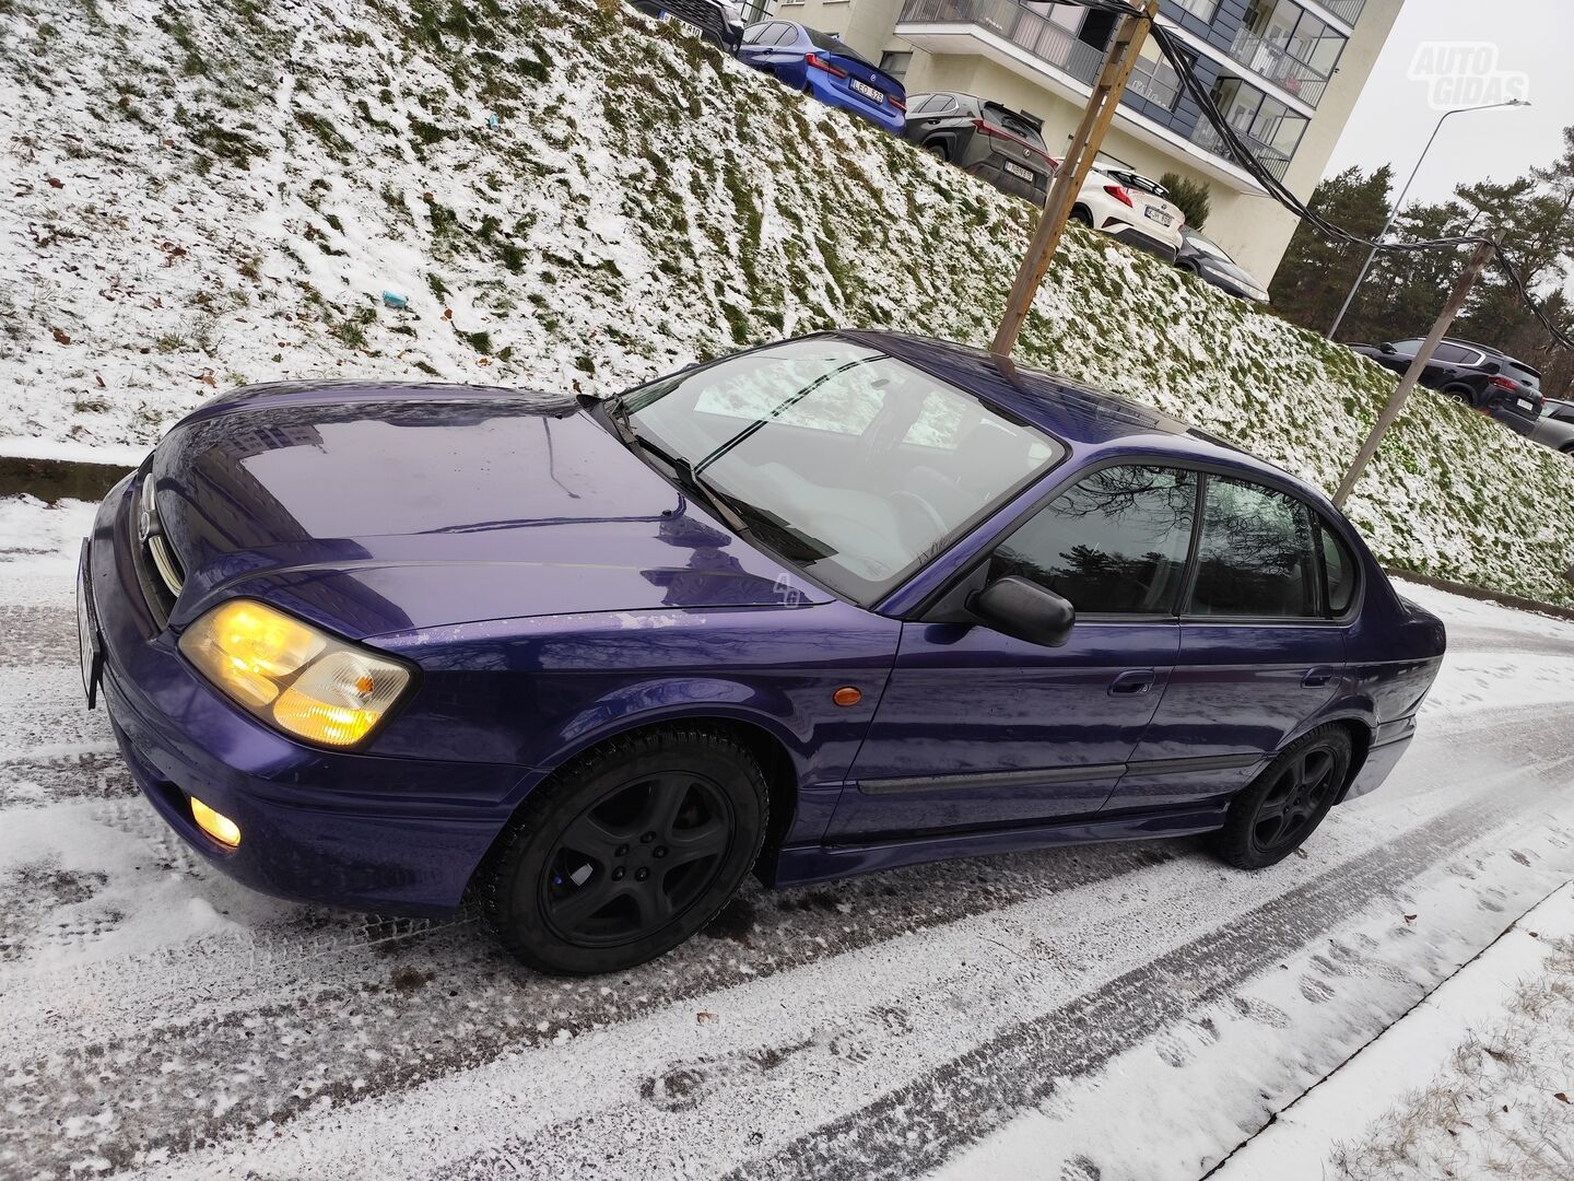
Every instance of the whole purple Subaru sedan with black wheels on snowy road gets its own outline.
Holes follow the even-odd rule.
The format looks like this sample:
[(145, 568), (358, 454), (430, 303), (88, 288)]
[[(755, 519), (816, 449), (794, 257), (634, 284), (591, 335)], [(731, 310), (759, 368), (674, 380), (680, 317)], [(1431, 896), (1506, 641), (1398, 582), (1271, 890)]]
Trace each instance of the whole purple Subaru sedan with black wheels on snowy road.
[(1210, 833), (1377, 787), (1443, 627), (1321, 493), (959, 345), (833, 332), (582, 403), (252, 386), (83, 545), (88, 702), (260, 890), (474, 901), (526, 964), (767, 885)]

